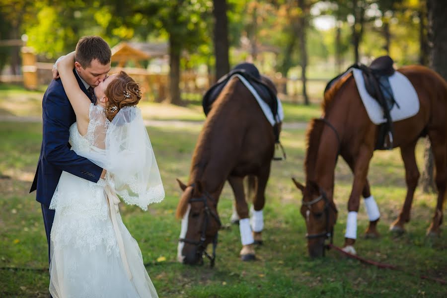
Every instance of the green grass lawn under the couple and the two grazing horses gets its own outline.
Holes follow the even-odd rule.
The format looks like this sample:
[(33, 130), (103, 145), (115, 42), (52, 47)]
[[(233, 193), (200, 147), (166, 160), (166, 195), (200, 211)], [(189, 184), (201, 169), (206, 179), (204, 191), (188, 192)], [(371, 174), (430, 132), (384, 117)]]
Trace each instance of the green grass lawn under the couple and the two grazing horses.
[[(264, 245), (256, 249), (257, 261), (243, 263), (239, 229), (230, 226), (219, 235), (216, 267), (178, 264), (180, 223), (174, 210), (180, 191), (175, 178), (187, 180), (190, 158), (200, 128), (148, 128), (157, 157), (166, 198), (143, 212), (120, 204), (125, 224), (137, 239), (147, 270), (160, 297), (446, 297), (444, 285), (399, 271), (383, 270), (346, 259), (336, 251), (326, 258), (307, 256), (304, 221), (299, 215), (301, 195), (290, 180), (302, 181), (304, 131), (285, 130), (286, 161), (275, 161), (267, 187)], [(48, 297), (47, 243), (40, 205), (28, 194), (41, 143), (41, 124), (0, 123), (0, 297)], [(422, 163), (422, 146), (417, 149)], [(372, 192), (381, 210), (381, 237), (362, 239), (368, 224), (359, 212), (359, 255), (398, 265), (412, 274), (447, 279), (447, 236), (425, 237), (435, 206), (435, 195), (416, 191), (412, 219), (400, 237), (388, 232), (405, 196), (404, 169), (398, 150), (376, 152), (370, 167)], [(339, 220), (335, 244), (343, 244), (347, 199), (352, 175), (339, 159), (335, 201)], [(229, 223), (232, 193), (225, 186), (219, 204), (223, 224)], [(41, 271), (5, 270), (4, 267)]]

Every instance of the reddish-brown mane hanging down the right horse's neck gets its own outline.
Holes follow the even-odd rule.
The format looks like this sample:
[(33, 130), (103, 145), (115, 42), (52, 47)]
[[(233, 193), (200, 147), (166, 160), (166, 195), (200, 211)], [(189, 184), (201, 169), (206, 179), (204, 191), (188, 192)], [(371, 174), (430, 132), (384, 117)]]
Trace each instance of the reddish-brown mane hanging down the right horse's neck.
[(304, 159), (304, 171), (307, 181), (315, 181), (315, 166), (318, 156), (318, 147), (320, 145), (321, 133), (323, 132), (324, 123), (319, 119), (312, 119), (309, 129), (306, 133), (306, 156)]

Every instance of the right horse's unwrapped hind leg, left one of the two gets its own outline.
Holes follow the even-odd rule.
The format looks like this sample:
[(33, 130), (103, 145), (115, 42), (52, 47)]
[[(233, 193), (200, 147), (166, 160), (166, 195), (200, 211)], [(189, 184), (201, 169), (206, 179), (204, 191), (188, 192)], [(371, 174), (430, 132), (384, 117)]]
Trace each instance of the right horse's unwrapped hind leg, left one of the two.
[(405, 203), (402, 207), (398, 218), (390, 225), (390, 231), (403, 233), (405, 231), (404, 224), (410, 221), (411, 204), (413, 203), (414, 191), (419, 181), (419, 170), (416, 164), (416, 157), (414, 154), (417, 140), (407, 147), (400, 149), (400, 154), (405, 166), (405, 182), (407, 183), (407, 195), (405, 196)]

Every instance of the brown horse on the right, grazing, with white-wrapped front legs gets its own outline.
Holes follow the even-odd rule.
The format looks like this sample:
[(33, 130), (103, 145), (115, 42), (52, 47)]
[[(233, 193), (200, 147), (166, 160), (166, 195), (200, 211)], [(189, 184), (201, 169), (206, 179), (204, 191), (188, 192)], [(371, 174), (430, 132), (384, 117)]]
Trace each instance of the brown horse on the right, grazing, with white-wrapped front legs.
[[(435, 215), (427, 233), (438, 234), (443, 219), (447, 180), (447, 83), (439, 74), (422, 66), (408, 66), (398, 72), (413, 84), (420, 109), (415, 116), (393, 123), (393, 145), (401, 151), (407, 194), (402, 211), (390, 229), (402, 232), (404, 224), (410, 220), (411, 203), (419, 179), (415, 147), (420, 137), (428, 135), (435, 158), (439, 193)], [(324, 254), (325, 239), (329, 237), (332, 240), (333, 226), (337, 220), (337, 209), (333, 202), (334, 170), (340, 154), (354, 174), (347, 221), (347, 234), (350, 230), (351, 236), (345, 234), (344, 249), (355, 253), (353, 245), (360, 195), (366, 199), (372, 198), (367, 174), (378, 126), (368, 117), (352, 74), (338, 80), (325, 92), (322, 108), (322, 118), (314, 119), (307, 132), (305, 186), (294, 179), (303, 194), (301, 214), (307, 226), (308, 251), (311, 256), (321, 256)], [(379, 214), (374, 201), (373, 207), (377, 216), (370, 216), (366, 236), (378, 235), (376, 224)], [(355, 228), (351, 229), (350, 224), (354, 224)]]

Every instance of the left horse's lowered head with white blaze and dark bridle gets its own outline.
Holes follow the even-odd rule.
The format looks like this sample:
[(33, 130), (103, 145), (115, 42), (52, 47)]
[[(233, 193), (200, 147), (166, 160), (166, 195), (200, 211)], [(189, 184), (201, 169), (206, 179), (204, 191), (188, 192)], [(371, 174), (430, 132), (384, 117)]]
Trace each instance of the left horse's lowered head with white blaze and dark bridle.
[[(217, 235), (221, 221), (217, 212), (217, 201), (197, 181), (189, 186), (177, 179), (183, 191), (177, 206), (176, 217), (182, 219), (177, 247), (177, 260), (185, 264), (203, 264), (203, 254), (214, 265)], [(213, 255), (206, 252), (213, 243)]]

